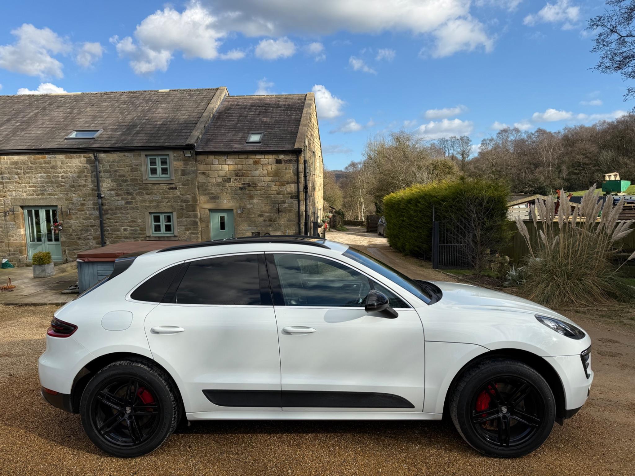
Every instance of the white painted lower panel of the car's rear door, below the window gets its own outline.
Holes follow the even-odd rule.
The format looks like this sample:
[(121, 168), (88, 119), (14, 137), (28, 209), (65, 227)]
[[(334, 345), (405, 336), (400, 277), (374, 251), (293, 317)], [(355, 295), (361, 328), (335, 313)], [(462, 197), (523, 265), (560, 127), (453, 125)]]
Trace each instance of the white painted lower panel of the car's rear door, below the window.
[[(206, 306), (159, 304), (145, 318), (145, 334), (159, 364), (178, 374), (183, 382), (188, 412), (281, 411), (268, 400), (252, 400), (249, 406), (213, 404), (205, 391), (280, 391), (274, 309), (255, 306)], [(177, 326), (178, 333), (157, 334), (152, 327)], [(235, 402), (236, 400), (233, 399)]]

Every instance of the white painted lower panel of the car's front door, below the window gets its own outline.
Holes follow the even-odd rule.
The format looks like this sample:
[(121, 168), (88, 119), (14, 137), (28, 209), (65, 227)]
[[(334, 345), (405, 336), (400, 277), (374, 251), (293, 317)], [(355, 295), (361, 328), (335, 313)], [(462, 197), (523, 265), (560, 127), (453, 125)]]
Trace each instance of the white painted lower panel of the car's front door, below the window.
[[(363, 308), (276, 307), (283, 402), (286, 392), (298, 390), (386, 393), (411, 406), (377, 407), (378, 411), (422, 411), (424, 333), (415, 310), (398, 312), (396, 319), (385, 319), (368, 315)], [(287, 326), (316, 331), (288, 334), (282, 330)], [(309, 397), (314, 398), (307, 395), (307, 401)], [(283, 410), (287, 408), (283, 403)], [(293, 410), (325, 408), (298, 407), (296, 402)]]

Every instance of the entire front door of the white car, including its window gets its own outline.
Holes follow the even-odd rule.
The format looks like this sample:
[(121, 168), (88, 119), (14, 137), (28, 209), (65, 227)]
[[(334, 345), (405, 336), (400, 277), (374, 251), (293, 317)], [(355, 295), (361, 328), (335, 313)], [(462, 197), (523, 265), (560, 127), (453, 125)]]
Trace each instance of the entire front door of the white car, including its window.
[(273, 253), (267, 264), (283, 411), (422, 411), (424, 332), (415, 310), (399, 309), (396, 319), (366, 313), (368, 277), (337, 261)]

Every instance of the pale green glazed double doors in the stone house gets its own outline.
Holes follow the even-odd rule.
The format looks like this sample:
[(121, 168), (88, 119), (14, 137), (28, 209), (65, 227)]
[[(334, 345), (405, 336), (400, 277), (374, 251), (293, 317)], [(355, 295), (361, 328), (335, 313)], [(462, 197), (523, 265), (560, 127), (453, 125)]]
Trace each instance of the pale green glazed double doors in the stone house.
[(24, 224), (27, 235), (27, 255), (50, 251), (53, 261), (62, 261), (60, 231), (53, 224), (58, 222), (57, 207), (25, 207)]

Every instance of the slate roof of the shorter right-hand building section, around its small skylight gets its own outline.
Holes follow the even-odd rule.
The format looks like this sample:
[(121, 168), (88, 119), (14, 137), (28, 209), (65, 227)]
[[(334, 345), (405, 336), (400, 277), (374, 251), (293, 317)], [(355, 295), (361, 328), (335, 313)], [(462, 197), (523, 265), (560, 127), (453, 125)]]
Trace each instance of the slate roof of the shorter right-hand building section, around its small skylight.
[[(213, 152), (293, 150), (307, 95), (227, 96), (196, 150)], [(262, 132), (260, 143), (247, 143)]]

